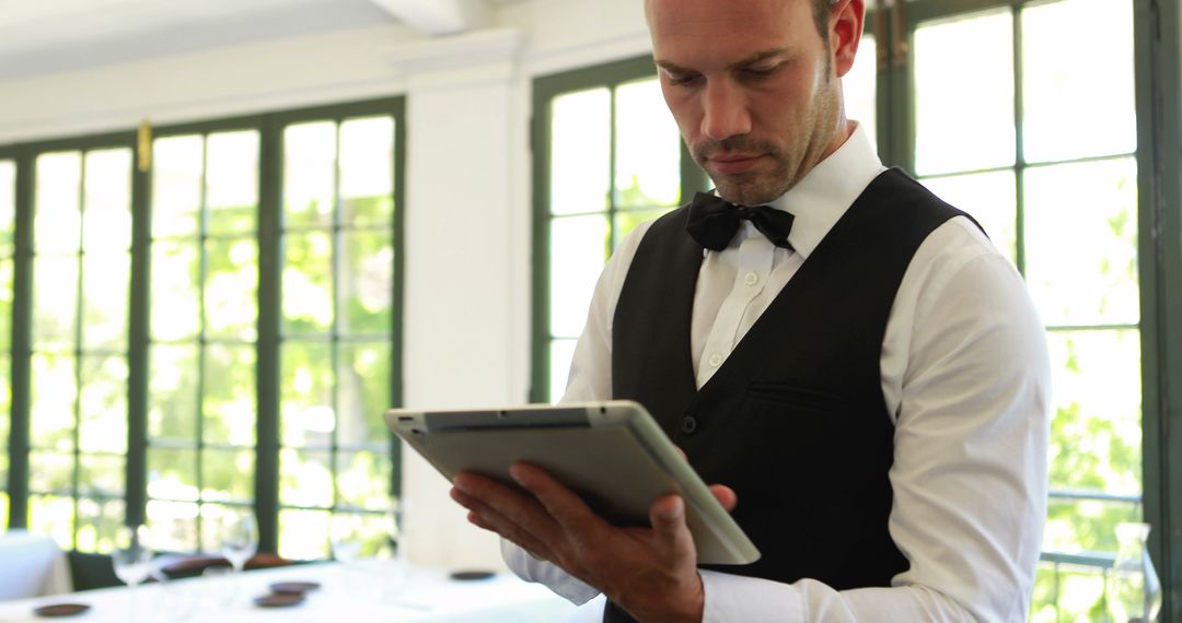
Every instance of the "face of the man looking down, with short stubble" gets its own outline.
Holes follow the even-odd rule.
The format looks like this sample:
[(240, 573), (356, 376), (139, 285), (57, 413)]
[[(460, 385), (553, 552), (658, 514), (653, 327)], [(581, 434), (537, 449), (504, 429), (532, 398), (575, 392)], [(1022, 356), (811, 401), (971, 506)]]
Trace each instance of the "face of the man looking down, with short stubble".
[(811, 0), (648, 0), (661, 88), (719, 195), (768, 203), (845, 139)]

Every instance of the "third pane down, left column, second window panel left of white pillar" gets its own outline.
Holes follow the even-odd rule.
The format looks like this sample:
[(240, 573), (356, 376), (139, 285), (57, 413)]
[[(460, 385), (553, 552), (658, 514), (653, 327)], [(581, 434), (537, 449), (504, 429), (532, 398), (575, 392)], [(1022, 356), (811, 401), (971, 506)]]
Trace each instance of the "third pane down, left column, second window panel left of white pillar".
[(196, 346), (160, 346), (149, 349), (148, 435), (151, 439), (195, 439), (197, 383), (201, 369)]

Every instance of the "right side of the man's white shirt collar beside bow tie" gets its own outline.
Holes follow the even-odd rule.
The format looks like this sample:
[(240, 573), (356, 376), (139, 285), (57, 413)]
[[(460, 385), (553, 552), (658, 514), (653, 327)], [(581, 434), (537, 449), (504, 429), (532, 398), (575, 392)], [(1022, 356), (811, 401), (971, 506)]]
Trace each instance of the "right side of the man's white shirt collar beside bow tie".
[(769, 204), (795, 217), (788, 242), (801, 260), (808, 258), (821, 238), (883, 170), (864, 126), (857, 124), (837, 151)]

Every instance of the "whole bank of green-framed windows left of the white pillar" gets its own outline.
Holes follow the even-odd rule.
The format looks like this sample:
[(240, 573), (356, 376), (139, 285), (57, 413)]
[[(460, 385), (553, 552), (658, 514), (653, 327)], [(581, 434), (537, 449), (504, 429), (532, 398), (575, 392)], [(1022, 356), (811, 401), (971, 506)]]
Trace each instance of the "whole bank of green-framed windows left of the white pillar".
[(31, 352), (4, 375), (0, 441), (11, 424), (32, 447), (0, 458), (6, 525), (103, 552), (147, 519), (158, 549), (210, 551), (252, 510), (260, 549), (293, 558), (326, 553), (335, 514), (385, 530), (402, 116), (377, 100), (0, 158), (0, 363)]

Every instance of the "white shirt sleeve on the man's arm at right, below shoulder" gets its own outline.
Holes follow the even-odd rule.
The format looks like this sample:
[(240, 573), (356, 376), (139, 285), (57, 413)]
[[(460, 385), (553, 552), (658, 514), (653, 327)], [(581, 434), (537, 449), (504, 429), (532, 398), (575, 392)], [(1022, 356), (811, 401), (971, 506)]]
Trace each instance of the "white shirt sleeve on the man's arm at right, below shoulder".
[(909, 570), (846, 591), (703, 571), (704, 621), (1026, 619), (1046, 513), (1046, 342), (1021, 276), (956, 221), (921, 245), (884, 341), (889, 529)]

